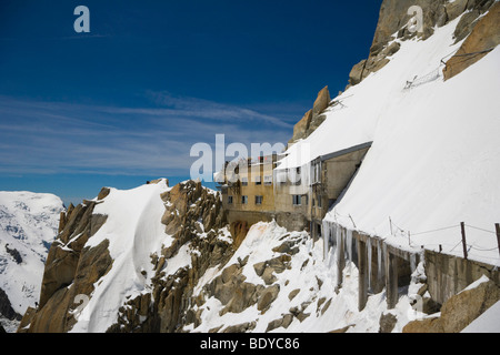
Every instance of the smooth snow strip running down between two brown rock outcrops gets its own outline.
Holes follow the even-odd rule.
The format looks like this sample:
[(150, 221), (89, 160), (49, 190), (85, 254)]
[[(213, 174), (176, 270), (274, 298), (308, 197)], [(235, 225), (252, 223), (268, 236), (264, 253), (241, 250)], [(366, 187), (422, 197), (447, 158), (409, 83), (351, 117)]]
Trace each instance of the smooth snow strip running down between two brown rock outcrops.
[(108, 220), (86, 247), (109, 240), (113, 265), (94, 285), (96, 290), (72, 332), (106, 332), (116, 323), (126, 296), (151, 291), (153, 265), (150, 255), (161, 250), (162, 244), (169, 246), (172, 241), (161, 224), (164, 205), (160, 194), (169, 190), (166, 180), (127, 191), (111, 189), (104, 202), (96, 206), (93, 213), (108, 215)]

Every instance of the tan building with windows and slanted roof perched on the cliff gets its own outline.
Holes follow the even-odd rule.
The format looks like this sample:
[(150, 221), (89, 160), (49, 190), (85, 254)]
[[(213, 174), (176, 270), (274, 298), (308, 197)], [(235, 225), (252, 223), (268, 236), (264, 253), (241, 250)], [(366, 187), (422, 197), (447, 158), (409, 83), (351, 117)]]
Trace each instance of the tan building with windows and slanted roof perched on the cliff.
[(281, 166), (283, 155), (226, 163), (217, 180), (233, 230), (277, 221), (290, 231), (321, 235), (321, 221), (339, 201), (371, 146), (366, 142), (317, 156), (304, 165)]

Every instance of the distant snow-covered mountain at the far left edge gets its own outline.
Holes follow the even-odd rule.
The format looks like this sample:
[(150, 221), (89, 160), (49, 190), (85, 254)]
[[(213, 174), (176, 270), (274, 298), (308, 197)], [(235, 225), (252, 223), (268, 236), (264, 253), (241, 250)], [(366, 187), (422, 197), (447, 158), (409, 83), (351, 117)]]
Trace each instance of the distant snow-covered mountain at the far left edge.
[[(39, 300), (44, 261), (63, 210), (52, 194), (0, 192), (0, 288), (19, 314)], [(17, 250), (20, 260), (8, 248)]]

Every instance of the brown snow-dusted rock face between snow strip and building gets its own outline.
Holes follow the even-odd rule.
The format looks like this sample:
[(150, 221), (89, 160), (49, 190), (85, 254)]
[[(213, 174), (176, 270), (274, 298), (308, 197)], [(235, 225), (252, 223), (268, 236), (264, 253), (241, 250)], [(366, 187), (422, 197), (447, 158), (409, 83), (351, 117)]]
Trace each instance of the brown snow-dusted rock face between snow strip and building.
[[(174, 241), (151, 255), (154, 265), (151, 292), (128, 301), (108, 332), (181, 331), (187, 323), (197, 320), (190, 306), (199, 302), (192, 298), (199, 278), (208, 268), (223, 265), (234, 252), (218, 194), (209, 192), (201, 183), (189, 181), (161, 197), (166, 203), (161, 223)], [(168, 264), (188, 245), (191, 265), (167, 272)]]

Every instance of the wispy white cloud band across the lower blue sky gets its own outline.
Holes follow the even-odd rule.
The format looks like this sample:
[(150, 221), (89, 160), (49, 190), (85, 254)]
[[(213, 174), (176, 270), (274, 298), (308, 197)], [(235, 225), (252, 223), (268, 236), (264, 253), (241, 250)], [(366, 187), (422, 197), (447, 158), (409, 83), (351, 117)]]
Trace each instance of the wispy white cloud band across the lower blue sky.
[(0, 95), (0, 173), (189, 173), (191, 146), (277, 143), (292, 124), (269, 114), (166, 93), (151, 106), (41, 102)]

